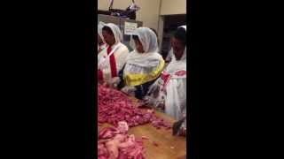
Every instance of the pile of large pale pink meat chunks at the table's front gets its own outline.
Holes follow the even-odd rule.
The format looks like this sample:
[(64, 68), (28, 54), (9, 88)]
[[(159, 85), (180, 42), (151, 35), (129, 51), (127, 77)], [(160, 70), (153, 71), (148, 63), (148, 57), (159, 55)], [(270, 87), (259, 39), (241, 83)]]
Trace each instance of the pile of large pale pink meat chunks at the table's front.
[(145, 149), (142, 139), (128, 135), (126, 122), (119, 122), (118, 127), (106, 127), (99, 132), (99, 159), (144, 159)]

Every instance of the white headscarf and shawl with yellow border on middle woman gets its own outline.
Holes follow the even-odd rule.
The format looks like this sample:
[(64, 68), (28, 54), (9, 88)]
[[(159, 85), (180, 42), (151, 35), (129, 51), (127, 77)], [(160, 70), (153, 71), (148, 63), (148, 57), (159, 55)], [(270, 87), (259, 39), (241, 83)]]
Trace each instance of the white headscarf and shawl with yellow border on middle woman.
[[(164, 61), (158, 51), (157, 37), (154, 32), (147, 27), (139, 27), (133, 34), (138, 35), (139, 41), (142, 43), (144, 53), (139, 53), (132, 40), (130, 45), (133, 51), (126, 58), (124, 67), (124, 80), (128, 85), (135, 81), (135, 85), (143, 84), (147, 81), (156, 79), (162, 72)], [(141, 75), (141, 78), (136, 78), (135, 75)], [(142, 77), (143, 76), (143, 77)]]

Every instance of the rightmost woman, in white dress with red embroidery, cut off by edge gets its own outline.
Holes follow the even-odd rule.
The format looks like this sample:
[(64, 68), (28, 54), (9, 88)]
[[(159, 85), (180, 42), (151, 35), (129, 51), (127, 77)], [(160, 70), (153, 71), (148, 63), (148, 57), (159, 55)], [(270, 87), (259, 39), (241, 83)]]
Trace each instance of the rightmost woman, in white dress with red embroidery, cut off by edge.
[[(186, 26), (177, 28), (171, 38), (171, 46), (173, 56), (170, 64), (150, 87), (146, 102), (152, 97), (154, 105), (180, 120), (186, 116)], [(186, 129), (186, 119), (182, 127)]]

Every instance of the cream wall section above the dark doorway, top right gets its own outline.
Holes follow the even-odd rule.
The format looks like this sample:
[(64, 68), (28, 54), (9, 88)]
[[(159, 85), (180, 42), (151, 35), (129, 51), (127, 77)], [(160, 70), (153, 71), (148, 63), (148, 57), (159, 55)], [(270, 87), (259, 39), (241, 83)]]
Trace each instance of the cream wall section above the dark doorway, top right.
[(186, 0), (162, 0), (160, 14), (186, 14)]

